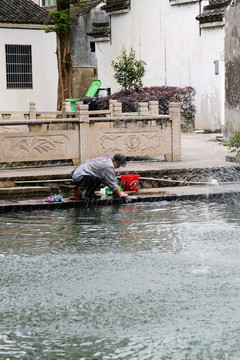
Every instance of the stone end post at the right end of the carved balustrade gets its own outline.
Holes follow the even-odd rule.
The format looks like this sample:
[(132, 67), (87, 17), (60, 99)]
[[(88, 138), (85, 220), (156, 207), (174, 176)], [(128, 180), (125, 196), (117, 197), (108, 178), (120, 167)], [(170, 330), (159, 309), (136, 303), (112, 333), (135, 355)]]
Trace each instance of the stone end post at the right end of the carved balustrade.
[(172, 161), (181, 160), (181, 104), (169, 104), (169, 116), (171, 120), (171, 148)]

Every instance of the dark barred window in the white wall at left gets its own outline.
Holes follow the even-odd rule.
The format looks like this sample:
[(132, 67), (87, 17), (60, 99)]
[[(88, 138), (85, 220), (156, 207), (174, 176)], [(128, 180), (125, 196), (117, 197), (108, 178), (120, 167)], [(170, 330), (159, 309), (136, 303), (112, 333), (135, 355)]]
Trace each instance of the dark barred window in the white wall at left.
[(7, 89), (31, 89), (31, 45), (5, 45), (5, 51)]

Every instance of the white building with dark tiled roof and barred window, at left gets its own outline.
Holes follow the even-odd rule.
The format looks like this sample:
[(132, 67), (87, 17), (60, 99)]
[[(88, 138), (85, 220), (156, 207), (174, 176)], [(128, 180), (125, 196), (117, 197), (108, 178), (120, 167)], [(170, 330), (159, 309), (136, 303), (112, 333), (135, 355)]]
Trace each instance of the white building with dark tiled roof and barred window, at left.
[[(0, 109), (56, 110), (56, 35), (42, 29), (46, 10), (28, 0), (4, 2), (0, 8)], [(8, 15), (6, 15), (8, 14)]]

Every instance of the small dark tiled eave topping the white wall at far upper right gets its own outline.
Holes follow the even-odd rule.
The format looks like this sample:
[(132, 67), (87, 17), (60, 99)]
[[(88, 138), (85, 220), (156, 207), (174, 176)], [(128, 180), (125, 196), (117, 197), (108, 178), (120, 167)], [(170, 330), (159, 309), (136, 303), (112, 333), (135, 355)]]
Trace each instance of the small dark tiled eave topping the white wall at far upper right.
[(222, 21), (224, 11), (231, 0), (209, 0), (209, 5), (204, 6), (202, 14), (196, 17), (201, 24), (214, 21)]

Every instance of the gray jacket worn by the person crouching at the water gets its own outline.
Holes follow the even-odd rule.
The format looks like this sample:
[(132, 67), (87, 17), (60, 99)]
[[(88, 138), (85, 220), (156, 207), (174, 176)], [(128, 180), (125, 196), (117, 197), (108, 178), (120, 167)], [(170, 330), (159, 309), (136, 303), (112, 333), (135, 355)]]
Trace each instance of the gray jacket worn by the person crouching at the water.
[(72, 173), (72, 180), (78, 182), (86, 175), (101, 179), (113, 192), (118, 188), (115, 167), (111, 156), (106, 155), (90, 159), (78, 165)]

